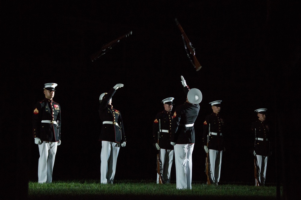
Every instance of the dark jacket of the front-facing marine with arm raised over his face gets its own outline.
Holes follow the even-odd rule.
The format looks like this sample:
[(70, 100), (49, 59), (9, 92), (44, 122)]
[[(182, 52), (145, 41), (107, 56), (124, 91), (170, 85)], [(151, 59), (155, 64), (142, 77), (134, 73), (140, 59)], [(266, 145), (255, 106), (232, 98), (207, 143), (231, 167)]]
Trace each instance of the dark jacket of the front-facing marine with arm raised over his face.
[(99, 140), (122, 143), (126, 142), (126, 138), (124, 134), (121, 113), (114, 109), (112, 105), (108, 104), (115, 92), (116, 90), (112, 88), (106, 95), (104, 95), (103, 100), (99, 105), (98, 112), (101, 122), (112, 121), (113, 123), (117, 123), (119, 126), (115, 123), (102, 124)]

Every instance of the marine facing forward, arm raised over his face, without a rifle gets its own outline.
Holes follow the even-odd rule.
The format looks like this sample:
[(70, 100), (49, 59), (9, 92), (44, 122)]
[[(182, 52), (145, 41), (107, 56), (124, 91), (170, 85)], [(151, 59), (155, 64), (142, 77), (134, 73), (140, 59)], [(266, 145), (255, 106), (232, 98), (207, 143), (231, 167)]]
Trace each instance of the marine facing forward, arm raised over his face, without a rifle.
[(116, 84), (108, 93), (99, 97), (99, 117), (102, 122), (101, 141), (101, 183), (113, 184), (120, 145), (126, 146), (121, 113), (112, 106), (112, 97), (123, 84)]

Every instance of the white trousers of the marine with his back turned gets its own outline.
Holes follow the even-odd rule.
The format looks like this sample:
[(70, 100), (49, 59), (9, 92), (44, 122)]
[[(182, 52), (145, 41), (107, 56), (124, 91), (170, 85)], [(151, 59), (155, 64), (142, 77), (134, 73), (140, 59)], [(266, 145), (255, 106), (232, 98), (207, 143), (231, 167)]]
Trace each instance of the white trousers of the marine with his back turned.
[(174, 146), (177, 189), (191, 189), (193, 148), (194, 144)]

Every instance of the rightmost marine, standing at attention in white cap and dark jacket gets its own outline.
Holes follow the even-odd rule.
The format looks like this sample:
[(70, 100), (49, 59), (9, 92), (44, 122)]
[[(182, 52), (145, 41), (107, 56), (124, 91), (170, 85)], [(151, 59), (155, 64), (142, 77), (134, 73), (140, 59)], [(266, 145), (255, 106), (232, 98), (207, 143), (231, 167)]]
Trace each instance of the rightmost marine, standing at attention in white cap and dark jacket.
[(259, 167), (260, 186), (265, 185), (265, 174), (268, 157), (272, 154), (270, 144), (270, 126), (266, 123), (266, 108), (255, 110), (258, 120), (253, 122), (251, 129), (255, 135), (255, 150), (257, 165)]

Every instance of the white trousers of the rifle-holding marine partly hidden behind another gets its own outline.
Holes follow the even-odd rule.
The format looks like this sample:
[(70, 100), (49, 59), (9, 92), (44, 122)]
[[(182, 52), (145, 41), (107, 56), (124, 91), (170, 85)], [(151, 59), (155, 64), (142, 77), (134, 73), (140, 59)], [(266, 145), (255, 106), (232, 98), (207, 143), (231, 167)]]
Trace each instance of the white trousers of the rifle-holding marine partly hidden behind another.
[[(165, 183), (170, 183), (170, 172), (173, 163), (173, 149), (160, 149), (163, 179)], [(157, 184), (159, 184), (159, 174), (157, 173)]]

